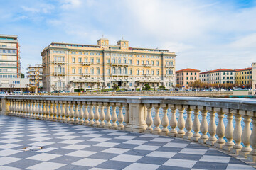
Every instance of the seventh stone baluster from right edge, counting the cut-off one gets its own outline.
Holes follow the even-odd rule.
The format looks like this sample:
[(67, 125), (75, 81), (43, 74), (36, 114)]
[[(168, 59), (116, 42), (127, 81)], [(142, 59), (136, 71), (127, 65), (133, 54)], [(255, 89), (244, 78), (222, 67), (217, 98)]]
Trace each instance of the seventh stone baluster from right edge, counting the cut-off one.
[(201, 131), (202, 135), (201, 135), (200, 139), (198, 140), (198, 142), (201, 144), (205, 144), (209, 138), (208, 135), (206, 135), (208, 132), (208, 123), (206, 120), (206, 115), (207, 115), (208, 111), (206, 110), (206, 107), (203, 107), (201, 112), (202, 112), (202, 121), (201, 121), (201, 125), (200, 125), (200, 131)]

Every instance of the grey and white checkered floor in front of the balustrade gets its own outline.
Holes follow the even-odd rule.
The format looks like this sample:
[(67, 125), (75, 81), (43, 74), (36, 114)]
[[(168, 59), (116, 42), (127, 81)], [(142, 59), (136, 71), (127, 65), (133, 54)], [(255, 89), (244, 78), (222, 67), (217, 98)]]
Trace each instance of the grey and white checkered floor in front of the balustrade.
[(171, 137), (0, 115), (0, 169), (253, 169)]

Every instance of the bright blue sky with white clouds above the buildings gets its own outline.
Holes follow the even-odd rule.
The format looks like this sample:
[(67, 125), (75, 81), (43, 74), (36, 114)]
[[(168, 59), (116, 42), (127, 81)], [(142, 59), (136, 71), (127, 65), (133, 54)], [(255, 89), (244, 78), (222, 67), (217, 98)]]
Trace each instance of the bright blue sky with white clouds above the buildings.
[(18, 35), (21, 72), (51, 42), (176, 52), (176, 70), (240, 69), (256, 62), (256, 1), (0, 0), (0, 34)]

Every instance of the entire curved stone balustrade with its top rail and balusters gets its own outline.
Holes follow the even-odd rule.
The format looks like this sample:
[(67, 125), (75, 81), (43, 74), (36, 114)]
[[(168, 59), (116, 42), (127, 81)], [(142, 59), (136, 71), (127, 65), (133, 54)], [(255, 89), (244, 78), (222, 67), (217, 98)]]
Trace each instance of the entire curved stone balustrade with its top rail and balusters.
[[(0, 98), (1, 114), (4, 115), (180, 137), (239, 154), (256, 162), (256, 100), (163, 96), (63, 98), (17, 95)], [(168, 111), (171, 113), (168, 114)], [(184, 114), (187, 115), (186, 120)], [(218, 121), (215, 121), (216, 115)]]

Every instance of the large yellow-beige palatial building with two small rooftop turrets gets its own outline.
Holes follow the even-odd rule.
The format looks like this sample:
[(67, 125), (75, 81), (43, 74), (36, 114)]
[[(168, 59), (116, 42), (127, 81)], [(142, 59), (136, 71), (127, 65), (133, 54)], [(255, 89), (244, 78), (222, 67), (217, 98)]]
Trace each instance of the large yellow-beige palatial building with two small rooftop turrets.
[(43, 91), (65, 91), (90, 86), (126, 89), (144, 84), (171, 88), (175, 84), (175, 52), (169, 50), (129, 47), (129, 41), (110, 45), (107, 38), (97, 45), (53, 42), (41, 52), (43, 61)]

